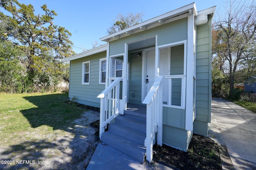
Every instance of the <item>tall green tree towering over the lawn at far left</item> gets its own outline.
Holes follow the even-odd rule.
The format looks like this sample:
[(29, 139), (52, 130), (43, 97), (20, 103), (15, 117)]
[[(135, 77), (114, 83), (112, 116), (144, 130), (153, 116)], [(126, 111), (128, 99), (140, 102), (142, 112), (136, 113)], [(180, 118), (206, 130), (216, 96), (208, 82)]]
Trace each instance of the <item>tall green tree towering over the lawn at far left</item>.
[(27, 86), (53, 80), (55, 64), (60, 64), (60, 59), (64, 57), (74, 55), (73, 43), (69, 40), (71, 33), (53, 24), (57, 14), (49, 10), (46, 4), (41, 6), (43, 15), (34, 14), (31, 4), (20, 4), (17, 0), (1, 0), (0, 7), (8, 12), (7, 15), (0, 12), (0, 20), (6, 21), (2, 39), (11, 40), (25, 53), (20, 61), (26, 65)]

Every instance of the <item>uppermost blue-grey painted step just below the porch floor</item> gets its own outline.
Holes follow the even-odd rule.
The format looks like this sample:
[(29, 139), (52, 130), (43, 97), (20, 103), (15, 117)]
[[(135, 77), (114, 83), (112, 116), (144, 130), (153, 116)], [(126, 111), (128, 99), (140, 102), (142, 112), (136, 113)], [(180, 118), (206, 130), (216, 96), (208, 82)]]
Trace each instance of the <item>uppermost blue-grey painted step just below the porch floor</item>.
[(146, 133), (146, 120), (131, 115), (122, 115), (115, 118), (115, 123)]

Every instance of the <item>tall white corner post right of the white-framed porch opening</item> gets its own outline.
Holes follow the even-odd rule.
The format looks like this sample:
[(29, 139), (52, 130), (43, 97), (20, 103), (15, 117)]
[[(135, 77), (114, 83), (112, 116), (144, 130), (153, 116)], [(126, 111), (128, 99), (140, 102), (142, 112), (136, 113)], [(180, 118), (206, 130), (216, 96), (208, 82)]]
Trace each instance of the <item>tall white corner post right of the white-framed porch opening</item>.
[(193, 75), (194, 75), (194, 15), (195, 12), (190, 10), (188, 16), (188, 41), (187, 41), (187, 69), (186, 69), (186, 124), (187, 131), (193, 131)]

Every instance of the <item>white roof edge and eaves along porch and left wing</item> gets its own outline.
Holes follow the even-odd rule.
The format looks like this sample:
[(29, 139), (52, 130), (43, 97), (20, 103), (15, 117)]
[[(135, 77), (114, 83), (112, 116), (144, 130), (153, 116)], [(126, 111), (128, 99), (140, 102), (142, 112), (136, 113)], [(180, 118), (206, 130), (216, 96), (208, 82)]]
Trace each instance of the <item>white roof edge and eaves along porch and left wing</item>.
[[(102, 37), (102, 38), (100, 38), (100, 40), (105, 41), (105, 42), (114, 41), (116, 39), (126, 37), (128, 35), (136, 34), (138, 32), (148, 30), (148, 29), (160, 26), (162, 24), (178, 20), (180, 18), (185, 18), (192, 13), (195, 16), (195, 20), (194, 20), (195, 25), (202, 25), (204, 23), (207, 23), (209, 14), (212, 14), (212, 15), (214, 14), (215, 7), (216, 6), (197, 12), (195, 3), (188, 4), (186, 6), (178, 8), (176, 10), (170, 11), (166, 14), (162, 14), (160, 16), (157, 16), (150, 20), (144, 21), (144, 22), (134, 25), (132, 27), (129, 27), (129, 28), (123, 29), (121, 31), (118, 31), (116, 33), (113, 33), (111, 35)], [(72, 61), (75, 59), (80, 59), (83, 57), (88, 57), (90, 55), (101, 53), (106, 50), (107, 50), (107, 45), (105, 44), (100, 47), (96, 47), (94, 49), (90, 49), (88, 51), (84, 51), (82, 53), (73, 55), (71, 57), (67, 57), (67, 58), (63, 59), (62, 61), (64, 61), (64, 62)]]

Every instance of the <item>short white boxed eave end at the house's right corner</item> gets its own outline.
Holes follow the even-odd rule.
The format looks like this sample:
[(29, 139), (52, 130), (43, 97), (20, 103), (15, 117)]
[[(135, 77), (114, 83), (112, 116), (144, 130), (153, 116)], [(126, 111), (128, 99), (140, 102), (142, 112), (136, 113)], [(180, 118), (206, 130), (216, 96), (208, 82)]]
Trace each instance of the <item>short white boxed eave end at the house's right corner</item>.
[(216, 6), (208, 8), (198, 12), (198, 16), (195, 17), (195, 25), (202, 25), (208, 22), (208, 15), (214, 15)]

